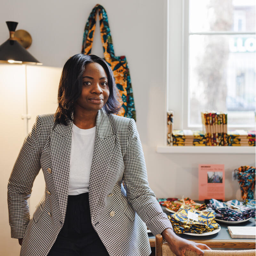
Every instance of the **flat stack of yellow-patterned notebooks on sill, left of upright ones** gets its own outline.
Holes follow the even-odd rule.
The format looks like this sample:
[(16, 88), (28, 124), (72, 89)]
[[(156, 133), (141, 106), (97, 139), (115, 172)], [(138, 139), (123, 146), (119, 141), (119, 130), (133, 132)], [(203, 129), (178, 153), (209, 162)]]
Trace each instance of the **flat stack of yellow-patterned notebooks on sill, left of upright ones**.
[(173, 146), (206, 146), (205, 133), (192, 130), (173, 130)]

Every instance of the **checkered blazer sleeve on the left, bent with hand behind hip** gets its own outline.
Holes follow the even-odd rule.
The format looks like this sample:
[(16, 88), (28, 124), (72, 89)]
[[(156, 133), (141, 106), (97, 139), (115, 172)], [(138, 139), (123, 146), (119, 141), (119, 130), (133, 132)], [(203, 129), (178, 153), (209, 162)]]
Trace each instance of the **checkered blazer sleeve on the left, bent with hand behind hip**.
[(23, 238), (30, 219), (27, 200), (31, 196), (36, 175), (41, 169), (39, 136), (40, 116), (36, 116), (36, 122), (23, 142), (7, 186), (9, 224), (12, 238)]

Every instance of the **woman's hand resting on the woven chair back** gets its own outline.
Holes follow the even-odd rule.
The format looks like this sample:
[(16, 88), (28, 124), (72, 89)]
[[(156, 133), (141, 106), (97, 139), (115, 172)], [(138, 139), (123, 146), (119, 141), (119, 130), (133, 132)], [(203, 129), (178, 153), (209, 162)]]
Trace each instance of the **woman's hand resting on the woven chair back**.
[(170, 245), (171, 251), (177, 256), (185, 256), (186, 251), (193, 251), (203, 256), (204, 252), (202, 250), (211, 250), (206, 244), (198, 244), (177, 236), (171, 228), (165, 229), (162, 236)]

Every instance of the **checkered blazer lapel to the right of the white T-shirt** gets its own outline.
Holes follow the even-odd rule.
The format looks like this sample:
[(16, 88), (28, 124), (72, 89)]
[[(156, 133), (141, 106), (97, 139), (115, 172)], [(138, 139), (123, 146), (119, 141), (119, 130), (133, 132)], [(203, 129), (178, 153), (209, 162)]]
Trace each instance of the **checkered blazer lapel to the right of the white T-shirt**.
[(108, 172), (115, 141), (116, 135), (112, 131), (108, 115), (103, 109), (100, 109), (96, 119), (96, 136), (89, 181), (89, 203), (92, 222), (95, 220), (95, 206), (98, 203)]

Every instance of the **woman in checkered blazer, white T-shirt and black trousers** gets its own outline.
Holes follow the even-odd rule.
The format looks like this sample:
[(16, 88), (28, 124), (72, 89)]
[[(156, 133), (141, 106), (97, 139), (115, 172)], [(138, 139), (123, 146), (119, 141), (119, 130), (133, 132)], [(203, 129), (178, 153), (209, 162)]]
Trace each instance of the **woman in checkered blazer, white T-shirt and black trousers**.
[[(71, 57), (58, 104), (55, 115), (36, 117), (9, 179), (11, 236), (20, 255), (145, 256), (146, 225), (176, 255), (203, 255), (209, 247), (176, 236), (148, 186), (135, 121), (114, 115), (120, 104), (108, 64), (95, 55)], [(41, 168), (45, 193), (29, 220), (27, 199)]]

